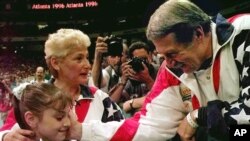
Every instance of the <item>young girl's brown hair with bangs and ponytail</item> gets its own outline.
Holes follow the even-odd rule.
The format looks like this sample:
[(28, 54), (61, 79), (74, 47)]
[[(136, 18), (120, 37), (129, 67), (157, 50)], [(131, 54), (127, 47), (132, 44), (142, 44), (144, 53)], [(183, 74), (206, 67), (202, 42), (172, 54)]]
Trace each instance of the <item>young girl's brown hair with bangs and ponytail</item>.
[(73, 105), (69, 94), (47, 83), (27, 85), (22, 91), (21, 98), (14, 97), (13, 103), (17, 123), (22, 129), (30, 129), (24, 118), (27, 111), (42, 118), (46, 109), (63, 110), (66, 106)]

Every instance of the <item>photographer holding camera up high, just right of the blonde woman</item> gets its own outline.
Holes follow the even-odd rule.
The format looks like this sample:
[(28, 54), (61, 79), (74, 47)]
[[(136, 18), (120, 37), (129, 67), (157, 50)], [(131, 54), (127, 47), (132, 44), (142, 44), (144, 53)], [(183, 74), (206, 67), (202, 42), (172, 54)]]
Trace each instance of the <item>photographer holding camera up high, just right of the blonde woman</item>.
[[(108, 92), (120, 80), (123, 56), (126, 56), (127, 45), (115, 36), (98, 37), (96, 40), (92, 79), (95, 86)], [(108, 66), (102, 69), (103, 57), (107, 57)]]

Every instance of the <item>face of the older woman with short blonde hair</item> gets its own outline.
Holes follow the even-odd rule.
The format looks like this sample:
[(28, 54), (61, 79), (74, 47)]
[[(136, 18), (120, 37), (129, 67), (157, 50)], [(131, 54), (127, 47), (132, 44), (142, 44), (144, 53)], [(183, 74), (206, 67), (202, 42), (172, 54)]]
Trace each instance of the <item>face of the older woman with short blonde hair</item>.
[(90, 69), (88, 56), (87, 48), (73, 49), (60, 61), (58, 77), (71, 85), (86, 84)]

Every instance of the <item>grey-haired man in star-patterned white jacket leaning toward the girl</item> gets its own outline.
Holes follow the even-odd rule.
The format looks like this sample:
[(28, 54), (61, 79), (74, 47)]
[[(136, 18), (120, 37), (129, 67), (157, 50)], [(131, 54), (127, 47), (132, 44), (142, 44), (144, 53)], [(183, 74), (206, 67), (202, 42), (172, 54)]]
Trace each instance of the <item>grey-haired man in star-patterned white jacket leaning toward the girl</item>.
[(166, 60), (141, 111), (121, 122), (72, 120), (72, 138), (164, 141), (178, 133), (186, 141), (202, 127), (204, 136), (228, 140), (231, 124), (250, 119), (249, 23), (247, 14), (212, 20), (187, 0), (165, 2), (147, 38)]

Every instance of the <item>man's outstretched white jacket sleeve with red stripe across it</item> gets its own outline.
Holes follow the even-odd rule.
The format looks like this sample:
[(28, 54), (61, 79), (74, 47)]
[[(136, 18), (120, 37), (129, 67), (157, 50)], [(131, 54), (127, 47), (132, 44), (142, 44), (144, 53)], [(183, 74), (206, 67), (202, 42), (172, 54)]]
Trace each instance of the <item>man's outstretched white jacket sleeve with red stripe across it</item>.
[(152, 101), (146, 102), (145, 109), (130, 119), (121, 122), (83, 123), (81, 141), (109, 141), (111, 139), (165, 141), (173, 138), (179, 123), (186, 115), (182, 98), (176, 91), (179, 91), (179, 88), (172, 87), (163, 90)]

